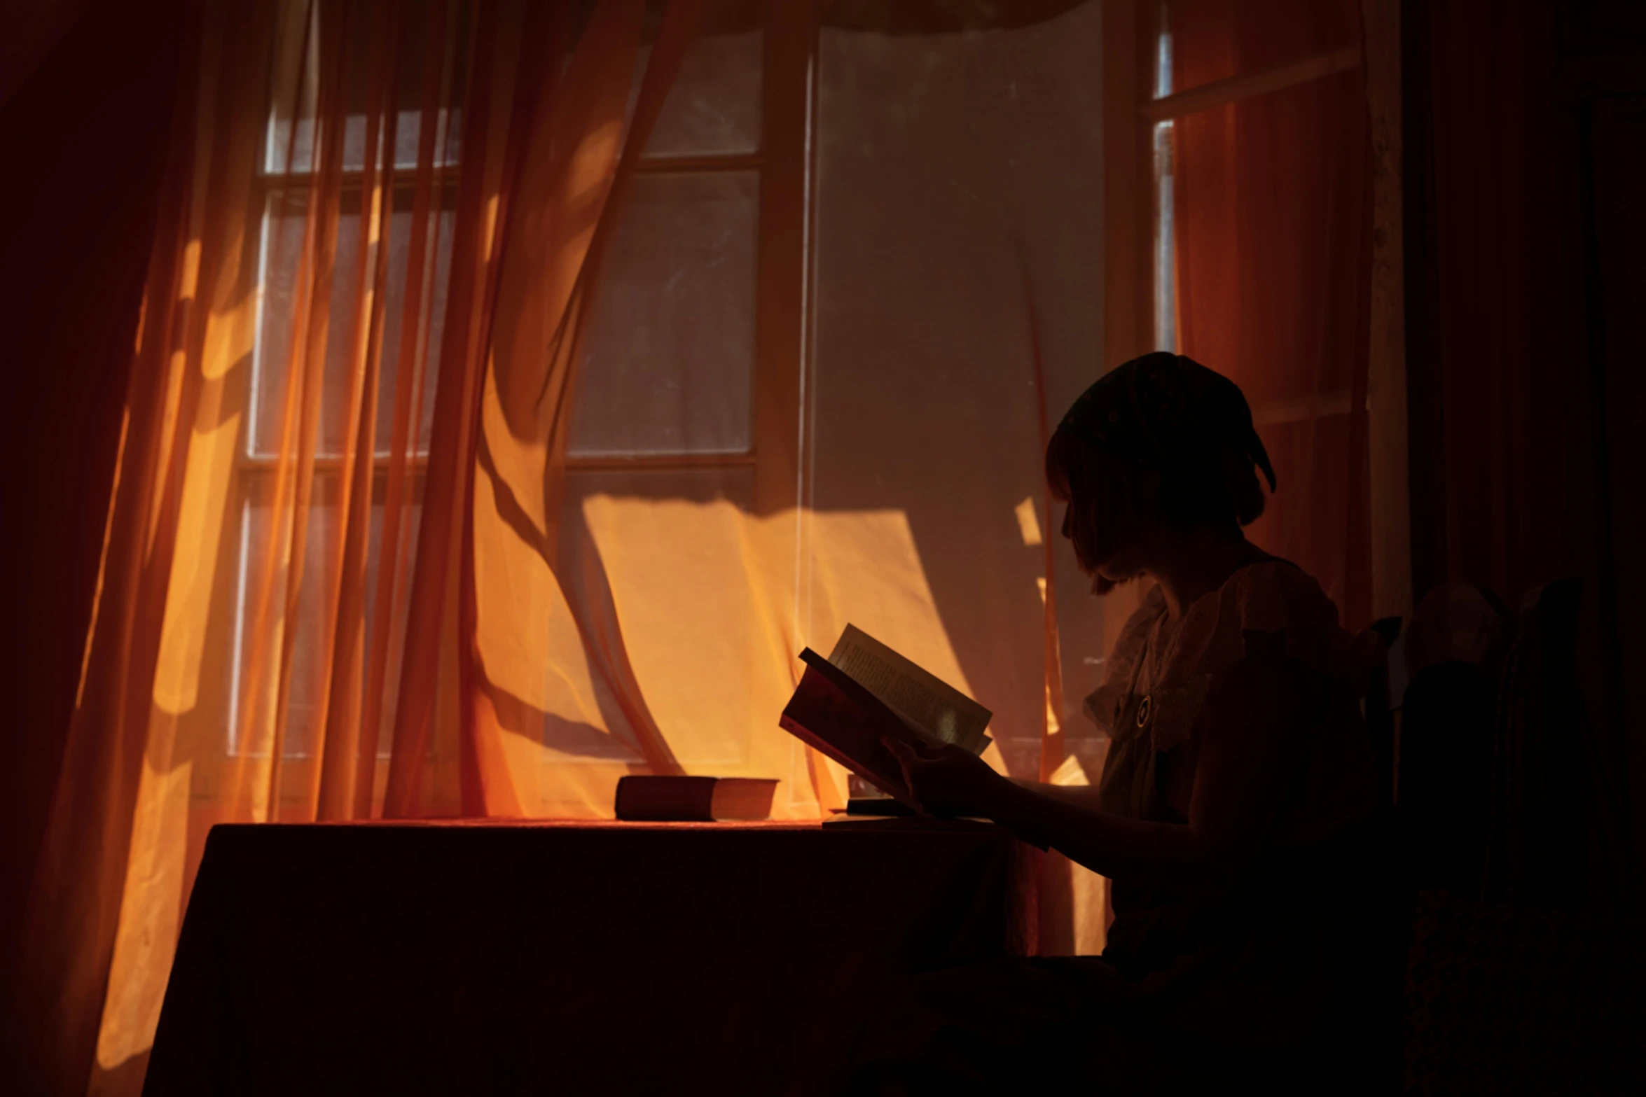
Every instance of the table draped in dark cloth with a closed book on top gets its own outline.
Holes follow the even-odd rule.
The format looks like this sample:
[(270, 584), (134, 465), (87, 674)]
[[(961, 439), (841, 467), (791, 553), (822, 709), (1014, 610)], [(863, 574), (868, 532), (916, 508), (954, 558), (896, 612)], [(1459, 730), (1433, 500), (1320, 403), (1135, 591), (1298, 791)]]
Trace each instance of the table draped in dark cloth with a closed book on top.
[(145, 1094), (836, 1092), (899, 969), (1021, 952), (1004, 832), (219, 826)]

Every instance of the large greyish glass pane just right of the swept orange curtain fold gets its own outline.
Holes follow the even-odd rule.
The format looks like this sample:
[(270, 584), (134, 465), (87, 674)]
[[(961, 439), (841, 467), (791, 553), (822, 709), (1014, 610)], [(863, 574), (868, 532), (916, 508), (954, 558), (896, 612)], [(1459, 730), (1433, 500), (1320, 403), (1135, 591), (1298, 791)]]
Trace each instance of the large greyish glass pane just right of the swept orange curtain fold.
[(637, 176), (601, 268), (573, 456), (749, 449), (759, 174)]

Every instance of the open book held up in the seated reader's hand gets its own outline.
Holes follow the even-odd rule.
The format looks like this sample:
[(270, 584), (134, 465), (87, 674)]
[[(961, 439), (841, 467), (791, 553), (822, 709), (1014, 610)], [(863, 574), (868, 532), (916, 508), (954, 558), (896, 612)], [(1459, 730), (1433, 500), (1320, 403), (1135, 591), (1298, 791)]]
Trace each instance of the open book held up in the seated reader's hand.
[(981, 704), (915, 666), (861, 628), (846, 625), (830, 658), (811, 648), (783, 729), (899, 801), (915, 806), (897, 757), (882, 737), (904, 743), (989, 745), (993, 715)]

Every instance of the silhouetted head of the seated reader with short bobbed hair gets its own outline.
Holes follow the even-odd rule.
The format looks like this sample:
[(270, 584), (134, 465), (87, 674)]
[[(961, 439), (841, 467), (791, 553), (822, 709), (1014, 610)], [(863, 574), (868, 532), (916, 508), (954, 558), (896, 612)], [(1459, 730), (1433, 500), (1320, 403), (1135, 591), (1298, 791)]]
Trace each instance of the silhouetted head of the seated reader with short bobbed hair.
[(1104, 373), (1045, 451), (1052, 495), (1067, 503), (1063, 536), (1098, 594), (1149, 569), (1185, 533), (1239, 536), (1262, 513), (1258, 469), (1274, 490), (1239, 386), (1164, 352)]

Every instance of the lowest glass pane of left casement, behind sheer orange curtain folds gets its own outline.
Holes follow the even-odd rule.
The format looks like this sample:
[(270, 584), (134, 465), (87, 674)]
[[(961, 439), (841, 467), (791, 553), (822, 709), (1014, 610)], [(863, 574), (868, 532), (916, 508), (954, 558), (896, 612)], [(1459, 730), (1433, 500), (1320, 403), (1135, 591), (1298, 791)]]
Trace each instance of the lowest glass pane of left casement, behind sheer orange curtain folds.
[[(247, 482), (247, 495), (240, 513), (240, 549), (239, 549), (239, 571), (237, 571), (237, 587), (235, 587), (235, 628), (234, 628), (234, 684), (230, 689), (232, 709), (229, 719), (229, 750), (230, 753), (239, 753), (242, 750), (240, 732), (242, 732), (242, 711), (250, 701), (247, 697), (247, 689), (252, 681), (250, 660), (253, 658), (253, 633), (258, 628), (258, 594), (263, 579), (263, 566), (267, 564), (270, 554), (281, 559), (281, 544), (272, 543), (275, 536), (273, 523), (273, 485), (275, 479), (270, 474), (252, 474)], [(374, 630), (375, 630), (375, 605), (377, 605), (377, 576), (379, 564), (384, 554), (384, 482), (379, 479), (374, 492), (372, 510), (370, 510), (370, 546), (367, 556), (367, 572), (365, 572), (365, 645), (360, 656), (360, 674), (362, 683), (367, 671), (367, 653), (372, 650)], [(329, 613), (329, 599), (334, 594), (337, 582), (337, 564), (341, 559), (342, 546), (339, 538), (342, 535), (342, 521), (337, 511), (339, 507), (337, 477), (321, 472), (314, 479), (314, 495), (309, 507), (308, 536), (305, 538), (305, 561), (303, 561), (303, 584), (298, 594), (298, 610), (296, 610), (296, 636), (291, 650), (291, 686), (286, 707), (286, 740), (283, 755), (288, 758), (309, 757), (314, 752), (318, 742), (319, 727), (326, 719), (324, 712), (324, 646), (328, 638), (328, 630), (334, 628), (334, 620)], [(395, 581), (400, 587), (395, 595), (395, 613), (390, 622), (390, 643), (388, 643), (388, 666), (385, 676), (384, 689), (384, 709), (382, 722), (379, 727), (377, 753), (379, 757), (387, 757), (392, 747), (393, 735), (393, 717), (395, 717), (395, 699), (398, 691), (395, 683), (400, 678), (400, 656), (405, 646), (405, 595), (410, 590), (412, 569), (416, 564), (416, 526), (421, 520), (421, 484), (413, 485), (412, 498), (402, 513), (400, 521), (400, 548), (402, 562), (395, 569)], [(263, 645), (265, 655), (268, 656), (265, 666), (262, 668), (262, 687), (260, 696), (265, 706), (263, 724), (253, 734), (253, 742), (262, 743), (257, 753), (267, 753), (267, 742), (272, 724), (267, 720), (273, 715), (273, 707), (270, 701), (270, 686), (275, 674), (275, 658), (278, 653), (278, 618), (280, 607), (285, 604), (288, 579), (288, 566), (281, 562), (275, 569), (272, 599), (270, 599), (270, 617), (267, 618), (268, 640)]]

